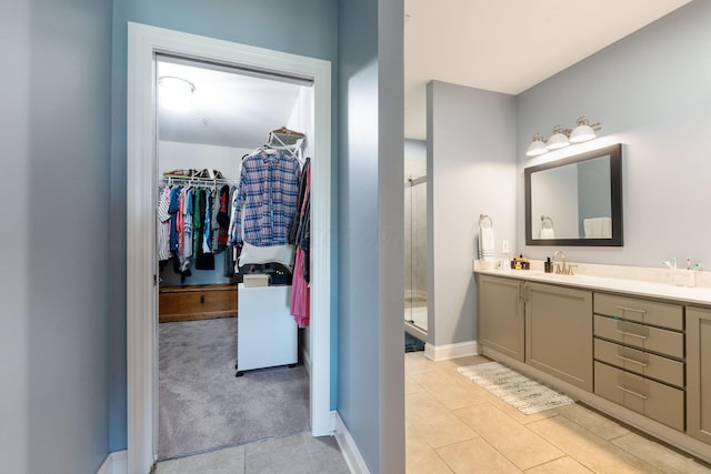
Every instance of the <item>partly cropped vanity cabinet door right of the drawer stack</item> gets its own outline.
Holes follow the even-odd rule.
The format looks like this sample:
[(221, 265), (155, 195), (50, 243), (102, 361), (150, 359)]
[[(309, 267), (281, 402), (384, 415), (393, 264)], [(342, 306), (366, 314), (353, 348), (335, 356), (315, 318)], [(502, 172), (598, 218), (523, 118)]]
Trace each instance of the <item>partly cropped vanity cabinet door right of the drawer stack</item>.
[(687, 432), (711, 444), (711, 310), (687, 307)]

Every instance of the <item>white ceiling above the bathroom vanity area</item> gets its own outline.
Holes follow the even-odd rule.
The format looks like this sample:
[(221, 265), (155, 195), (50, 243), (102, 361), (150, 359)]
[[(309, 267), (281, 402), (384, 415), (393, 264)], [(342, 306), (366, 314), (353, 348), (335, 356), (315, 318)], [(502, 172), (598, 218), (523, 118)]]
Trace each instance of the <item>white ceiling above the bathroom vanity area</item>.
[(405, 138), (435, 79), (518, 94), (690, 0), (405, 0)]

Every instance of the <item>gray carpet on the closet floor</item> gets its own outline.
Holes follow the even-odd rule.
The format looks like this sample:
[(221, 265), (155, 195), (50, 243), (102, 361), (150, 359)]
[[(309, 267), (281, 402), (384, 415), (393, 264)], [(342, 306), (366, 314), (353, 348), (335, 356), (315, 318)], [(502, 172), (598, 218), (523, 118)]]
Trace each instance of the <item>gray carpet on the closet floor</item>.
[(159, 460), (310, 428), (303, 365), (236, 377), (236, 317), (159, 324)]

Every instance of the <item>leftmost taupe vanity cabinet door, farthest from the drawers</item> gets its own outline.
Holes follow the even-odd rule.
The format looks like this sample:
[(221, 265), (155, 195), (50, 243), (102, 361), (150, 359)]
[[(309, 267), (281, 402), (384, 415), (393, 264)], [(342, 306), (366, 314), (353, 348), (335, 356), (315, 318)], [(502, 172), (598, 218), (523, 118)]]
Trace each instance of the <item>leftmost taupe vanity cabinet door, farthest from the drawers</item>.
[(478, 343), (523, 361), (522, 283), (479, 275)]

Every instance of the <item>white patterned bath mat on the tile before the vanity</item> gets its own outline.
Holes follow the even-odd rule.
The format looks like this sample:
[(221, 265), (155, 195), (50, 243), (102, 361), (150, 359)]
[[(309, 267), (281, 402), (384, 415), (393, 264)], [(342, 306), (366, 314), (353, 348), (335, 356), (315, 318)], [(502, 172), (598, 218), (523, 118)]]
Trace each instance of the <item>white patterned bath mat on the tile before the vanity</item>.
[(469, 365), (457, 371), (527, 415), (573, 403), (568, 396), (498, 362)]

